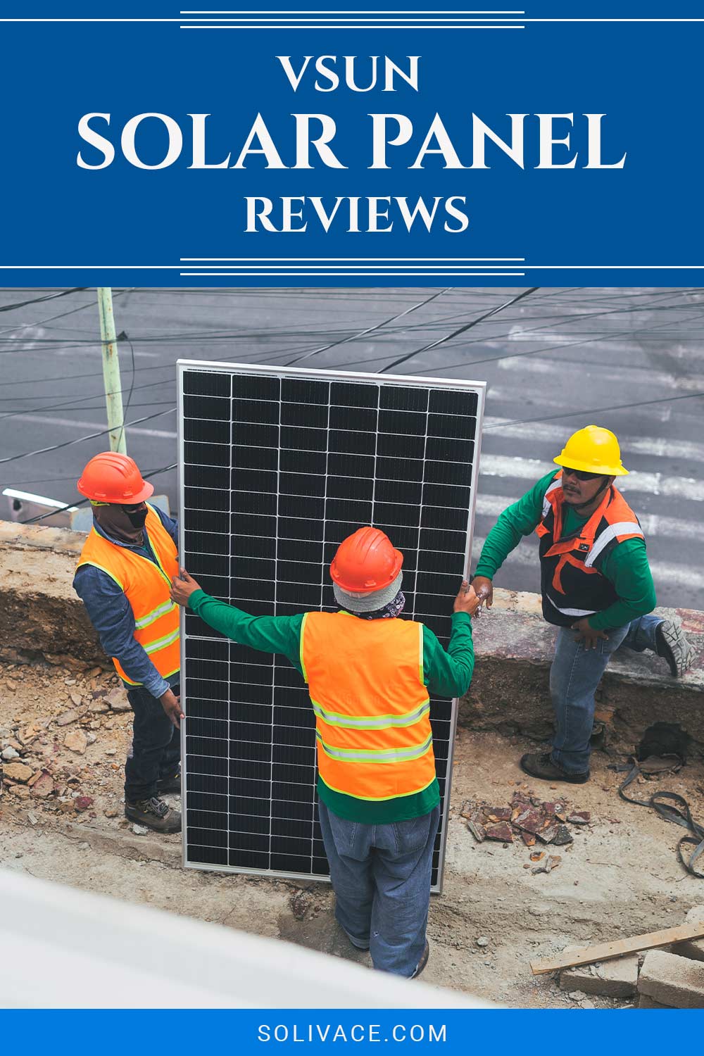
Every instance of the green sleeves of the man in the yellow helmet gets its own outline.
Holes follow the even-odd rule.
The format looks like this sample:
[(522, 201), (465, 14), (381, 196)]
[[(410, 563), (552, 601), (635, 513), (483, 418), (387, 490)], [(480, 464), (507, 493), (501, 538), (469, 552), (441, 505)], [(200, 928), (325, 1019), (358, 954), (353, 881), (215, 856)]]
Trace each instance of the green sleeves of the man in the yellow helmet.
[[(554, 470), (546, 473), (522, 498), (499, 514), (481, 548), (475, 576), (493, 579), (522, 536), (535, 531), (543, 518), (545, 493), (554, 476)], [(581, 517), (568, 504), (565, 504), (563, 513), (565, 535), (576, 531), (589, 520)], [(623, 627), (655, 607), (655, 588), (644, 540), (627, 539), (617, 543), (601, 563), (600, 572), (613, 584), (619, 601), (589, 617), (589, 624), (595, 630)]]

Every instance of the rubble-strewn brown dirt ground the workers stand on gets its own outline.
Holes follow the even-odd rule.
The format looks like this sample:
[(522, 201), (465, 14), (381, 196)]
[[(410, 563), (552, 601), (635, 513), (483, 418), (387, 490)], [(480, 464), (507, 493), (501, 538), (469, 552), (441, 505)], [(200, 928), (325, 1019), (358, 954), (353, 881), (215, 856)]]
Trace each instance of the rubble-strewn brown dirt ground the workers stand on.
[[(119, 710), (123, 694), (109, 672), (66, 663), (0, 664), (0, 865), (368, 963), (338, 928), (327, 884), (185, 870), (178, 836), (135, 834), (122, 816), (131, 729), (131, 713)], [(623, 1006), (628, 1002), (571, 998), (553, 976), (533, 977), (529, 962), (569, 944), (682, 923), (690, 907), (704, 904), (704, 882), (677, 859), (684, 830), (619, 798), (619, 778), (607, 766), (621, 759), (596, 752), (588, 785), (555, 789), (524, 782), (517, 760), (534, 748), (516, 737), (459, 732), (444, 885), (432, 900), (424, 981), (515, 1007)], [(681, 793), (695, 818), (704, 817), (700, 759), (636, 792), (658, 788)], [(467, 800), (506, 806), (518, 789), (567, 798), (572, 810), (591, 814), (589, 825), (570, 826), (572, 844), (547, 848), (562, 857), (548, 874), (531, 871), (531, 849), (520, 841), (476, 843), (460, 815)]]

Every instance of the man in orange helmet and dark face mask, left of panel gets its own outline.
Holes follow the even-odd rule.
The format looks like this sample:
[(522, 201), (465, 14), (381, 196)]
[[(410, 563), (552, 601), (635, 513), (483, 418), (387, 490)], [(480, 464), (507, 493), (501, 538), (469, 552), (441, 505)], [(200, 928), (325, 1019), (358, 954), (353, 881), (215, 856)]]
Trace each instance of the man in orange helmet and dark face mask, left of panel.
[(178, 606), (169, 598), (177, 524), (147, 503), (154, 486), (128, 455), (95, 455), (78, 490), (91, 501), (93, 529), (74, 589), (134, 712), (125, 816), (156, 832), (180, 832), (180, 813), (161, 798), (180, 793)]

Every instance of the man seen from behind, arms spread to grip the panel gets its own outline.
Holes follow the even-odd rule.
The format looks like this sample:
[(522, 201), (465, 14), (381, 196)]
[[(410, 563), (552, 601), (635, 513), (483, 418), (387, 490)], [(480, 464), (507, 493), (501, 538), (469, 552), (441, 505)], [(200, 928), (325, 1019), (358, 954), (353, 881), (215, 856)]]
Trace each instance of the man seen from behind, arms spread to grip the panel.
[(425, 938), (440, 795), (429, 693), (459, 697), (474, 666), (467, 581), (448, 652), (422, 623), (400, 620), (402, 554), (377, 528), (337, 550), (339, 612), (252, 617), (210, 598), (185, 569), (171, 597), (221, 634), (282, 653), (308, 683), (316, 713), (318, 809), (336, 916), (375, 968), (415, 978)]

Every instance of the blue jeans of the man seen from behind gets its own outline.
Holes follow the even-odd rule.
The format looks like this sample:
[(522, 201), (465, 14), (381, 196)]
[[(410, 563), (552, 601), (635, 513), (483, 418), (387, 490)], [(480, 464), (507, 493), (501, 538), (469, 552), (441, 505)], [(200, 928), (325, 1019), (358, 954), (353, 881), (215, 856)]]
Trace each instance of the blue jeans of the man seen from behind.
[(335, 916), (375, 968), (410, 977), (425, 948), (433, 845), (440, 808), (407, 822), (347, 822), (318, 803)]

